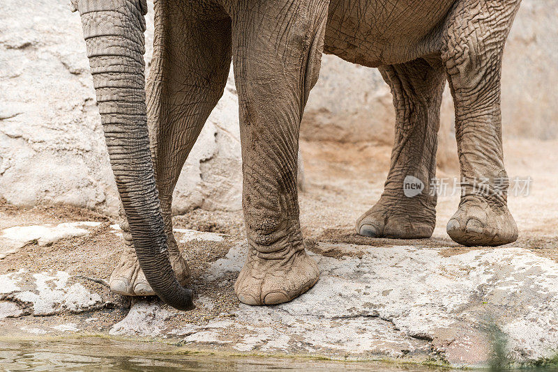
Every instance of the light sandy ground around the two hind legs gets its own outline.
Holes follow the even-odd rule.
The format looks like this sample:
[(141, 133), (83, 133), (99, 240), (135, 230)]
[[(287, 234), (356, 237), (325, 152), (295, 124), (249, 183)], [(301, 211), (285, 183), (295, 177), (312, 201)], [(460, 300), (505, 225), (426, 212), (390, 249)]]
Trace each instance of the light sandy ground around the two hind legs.
[[(508, 139), (504, 141), (505, 163), (511, 178), (532, 178), (527, 196), (508, 196), (509, 208), (519, 228), (513, 246), (557, 259), (558, 154), (557, 141)], [(301, 224), (306, 238), (341, 240), (372, 245), (442, 245), (465, 251), (446, 234), (446, 224), (459, 204), (458, 194), (441, 195), (437, 224), (430, 239), (391, 240), (361, 238), (354, 222), (382, 194), (389, 170), (390, 146), (361, 146), (328, 142), (303, 142), (308, 187), (300, 195)], [(457, 158), (457, 154), (455, 154)], [(457, 168), (438, 169), (438, 178), (453, 180)], [(495, 248), (497, 249), (497, 248)]]

